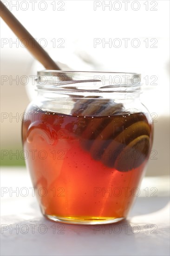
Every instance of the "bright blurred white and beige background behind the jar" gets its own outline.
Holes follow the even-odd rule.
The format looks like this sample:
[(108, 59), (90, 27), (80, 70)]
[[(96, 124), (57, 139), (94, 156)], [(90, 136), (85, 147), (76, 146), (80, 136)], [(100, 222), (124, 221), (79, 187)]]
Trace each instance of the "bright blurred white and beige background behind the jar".
[[(73, 70), (103, 70), (139, 72), (144, 80), (141, 99), (156, 113), (155, 141), (157, 161), (150, 161), (149, 174), (167, 174), (169, 166), (169, 0), (157, 1), (3, 1), (27, 30), (42, 44), (61, 67)], [(34, 2), (34, 10), (33, 3)], [(127, 10), (125, 10), (125, 3)], [(110, 4), (110, 7), (105, 5)], [(14, 7), (17, 5), (17, 7)], [(99, 7), (96, 7), (99, 5)], [(96, 8), (95, 8), (96, 7)], [(59, 11), (59, 8), (63, 9)], [(27, 10), (25, 10), (27, 9)], [(43, 9), (46, 9), (43, 11)], [(53, 10), (54, 9), (54, 10)], [(96, 9), (96, 10), (95, 10)], [(117, 10), (115, 10), (117, 9)], [(120, 10), (118, 10), (120, 9)], [(136, 9), (136, 10), (134, 10)], [(138, 10), (137, 10), (138, 9)], [(147, 10), (148, 9), (148, 10)], [(153, 9), (153, 10), (151, 10)], [(0, 20), (1, 76), (19, 78), (36, 74), (35, 62), (16, 36)], [(100, 44), (94, 47), (97, 38)], [(127, 41), (125, 47), (124, 38)], [(61, 40), (60, 40), (61, 39)], [(103, 41), (111, 40), (111, 45)], [(118, 46), (121, 41), (122, 45)], [(134, 47), (140, 42), (139, 47)], [(55, 46), (53, 42), (55, 40)], [(59, 40), (59, 42), (57, 41)], [(148, 45), (146, 45), (148, 40)], [(17, 44), (13, 42), (17, 41)], [(63, 42), (62, 48), (59, 43)], [(134, 45), (133, 45), (134, 42)], [(154, 45), (153, 43), (156, 42)], [(132, 43), (132, 45), (131, 45)], [(154, 47), (153, 47), (154, 46)], [(83, 60), (84, 61), (83, 61)], [(38, 65), (39, 69), (43, 69)], [(151, 85), (156, 76), (156, 85)], [(2, 77), (1, 77), (2, 78)], [(12, 83), (12, 85), (10, 85)], [(1, 112), (17, 115), (24, 112), (29, 100), (26, 87), (15, 81), (1, 80)], [(12, 113), (12, 114), (10, 114)], [(21, 148), (21, 121), (7, 118), (1, 121), (1, 148)], [(163, 164), (164, 162), (164, 164)]]

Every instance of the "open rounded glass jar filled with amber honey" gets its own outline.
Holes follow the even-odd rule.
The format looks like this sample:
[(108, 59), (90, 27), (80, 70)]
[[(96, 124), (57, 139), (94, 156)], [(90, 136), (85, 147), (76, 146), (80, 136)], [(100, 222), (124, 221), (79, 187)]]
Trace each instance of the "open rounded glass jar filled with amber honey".
[(132, 73), (38, 72), (22, 139), (44, 216), (79, 224), (127, 216), (153, 135), (140, 85)]

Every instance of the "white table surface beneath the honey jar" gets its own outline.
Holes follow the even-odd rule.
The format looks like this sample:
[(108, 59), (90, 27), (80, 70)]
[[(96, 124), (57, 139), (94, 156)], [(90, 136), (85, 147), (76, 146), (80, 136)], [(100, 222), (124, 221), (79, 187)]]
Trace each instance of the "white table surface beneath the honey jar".
[[(32, 187), (25, 168), (1, 168), (1, 256), (170, 255), (168, 177), (145, 178), (127, 220), (108, 225), (46, 220), (32, 190), (10, 196), (10, 187)], [(153, 187), (157, 196), (150, 196)]]

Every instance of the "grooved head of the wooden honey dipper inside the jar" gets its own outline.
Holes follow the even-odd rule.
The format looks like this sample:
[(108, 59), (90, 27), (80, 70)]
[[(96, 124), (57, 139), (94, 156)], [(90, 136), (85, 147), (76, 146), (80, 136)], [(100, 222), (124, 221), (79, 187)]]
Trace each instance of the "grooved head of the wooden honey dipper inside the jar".
[(100, 117), (78, 131), (82, 147), (95, 160), (118, 171), (129, 171), (141, 165), (149, 155), (151, 144), (151, 127), (145, 115), (130, 114), (121, 103), (111, 100), (88, 101), (81, 99), (72, 109), (72, 115), (82, 116), (79, 122), (85, 122), (85, 115)]

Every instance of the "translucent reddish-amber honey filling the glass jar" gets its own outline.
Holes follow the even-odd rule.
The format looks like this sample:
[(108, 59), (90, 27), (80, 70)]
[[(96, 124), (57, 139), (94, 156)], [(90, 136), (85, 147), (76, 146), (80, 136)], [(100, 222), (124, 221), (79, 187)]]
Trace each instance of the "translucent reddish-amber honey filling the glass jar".
[(35, 106), (27, 114), (26, 165), (42, 213), (72, 223), (126, 217), (151, 147), (146, 116), (64, 115)]

